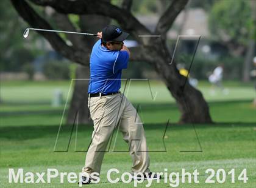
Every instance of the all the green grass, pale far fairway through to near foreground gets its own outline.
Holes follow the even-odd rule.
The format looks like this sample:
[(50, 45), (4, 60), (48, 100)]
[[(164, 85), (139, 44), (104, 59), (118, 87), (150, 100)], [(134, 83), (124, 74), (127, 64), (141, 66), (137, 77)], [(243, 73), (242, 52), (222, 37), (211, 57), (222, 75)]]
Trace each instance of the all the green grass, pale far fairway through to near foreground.
[[(3, 103), (0, 106), (0, 187), (78, 186), (76, 183), (69, 184), (66, 178), (64, 184), (60, 184), (59, 179), (51, 184), (8, 183), (9, 168), (24, 168), (25, 172), (46, 172), (48, 168), (55, 168), (59, 172), (76, 173), (82, 169), (92, 125), (74, 127), (68, 152), (53, 151), (65, 104), (52, 107), (52, 95), (58, 87), (63, 91), (64, 99), (70, 99), (69, 86), (68, 81), (1, 82), (0, 96)], [(256, 186), (256, 109), (252, 106), (255, 92), (252, 84), (225, 82), (224, 86), (229, 89), (229, 95), (223, 95), (218, 90), (215, 95), (210, 95), (209, 84), (199, 82), (199, 89), (208, 101), (215, 124), (179, 125), (176, 123), (180, 112), (162, 82), (151, 82), (153, 95), (157, 92), (155, 100), (152, 100), (149, 87), (144, 82), (130, 84), (126, 95), (134, 106), (140, 104), (138, 113), (144, 123), (149, 150), (158, 151), (149, 153), (152, 171), (164, 172), (164, 169), (168, 169), (168, 174), (181, 172), (182, 168), (187, 172), (193, 172), (194, 169), (199, 171), (199, 184), (180, 183), (179, 187)], [(170, 124), (163, 138), (168, 119)], [(71, 125), (61, 127), (57, 150), (67, 149), (71, 129)], [(115, 148), (113, 143), (110, 145), (110, 151), (127, 150), (128, 146), (121, 134), (116, 135), (115, 132), (114, 136), (117, 141)], [(75, 149), (82, 152), (74, 152)], [(165, 149), (166, 152), (163, 152)], [(180, 152), (201, 149), (202, 152)], [(129, 172), (131, 165), (127, 152), (107, 152), (100, 183), (84, 187), (133, 187), (133, 182), (110, 184), (106, 178), (108, 169), (115, 167), (120, 173)], [(234, 168), (235, 184), (231, 183), (230, 175), (227, 175), (224, 184), (205, 184), (205, 170), (209, 168), (222, 168), (226, 173)], [(246, 184), (237, 180), (244, 168), (247, 169), (249, 178)], [(216, 176), (213, 180), (216, 180)], [(138, 187), (146, 187), (146, 184), (145, 181)], [(159, 184), (154, 182), (151, 187), (170, 186), (161, 180)]]

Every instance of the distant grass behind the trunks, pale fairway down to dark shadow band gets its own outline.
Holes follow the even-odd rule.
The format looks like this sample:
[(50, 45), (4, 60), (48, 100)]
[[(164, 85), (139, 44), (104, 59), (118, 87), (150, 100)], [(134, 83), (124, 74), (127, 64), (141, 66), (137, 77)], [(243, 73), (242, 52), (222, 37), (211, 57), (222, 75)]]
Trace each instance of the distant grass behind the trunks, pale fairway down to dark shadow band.
[[(68, 95), (70, 86), (71, 81), (1, 82), (0, 126), (59, 124), (65, 101), (72, 95), (72, 92)], [(126, 87), (127, 98), (134, 106), (141, 106), (139, 113), (144, 123), (163, 123), (168, 119), (177, 123), (180, 112), (166, 87), (159, 81), (151, 81), (150, 86), (154, 100), (147, 81), (131, 81)], [(219, 90), (210, 95), (210, 85), (205, 81), (199, 82), (199, 90), (208, 101), (213, 121), (256, 122), (255, 109), (251, 105), (255, 95), (252, 84), (225, 82), (224, 86), (229, 89), (229, 95), (223, 95)], [(51, 106), (56, 88), (63, 92), (60, 107)]]

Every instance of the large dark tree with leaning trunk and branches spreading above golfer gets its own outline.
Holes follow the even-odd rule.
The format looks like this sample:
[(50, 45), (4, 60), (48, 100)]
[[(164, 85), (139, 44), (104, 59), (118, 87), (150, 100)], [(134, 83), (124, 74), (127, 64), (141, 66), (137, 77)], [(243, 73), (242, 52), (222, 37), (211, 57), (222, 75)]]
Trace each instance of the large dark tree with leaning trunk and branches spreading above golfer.
[[(24, 0), (10, 0), (13, 6), (32, 27), (52, 29), (51, 25)], [(124, 0), (120, 7), (111, 4), (108, 1), (98, 0), (77, 0), (77, 1), (57, 1), (57, 0), (30, 0), (32, 4), (43, 7), (52, 7), (62, 15), (76, 14), (82, 15), (101, 15), (107, 18), (115, 19), (118, 24), (132, 35), (138, 44), (138, 47), (131, 48), (131, 61), (146, 61), (154, 66), (157, 73), (162, 76), (171, 95), (176, 99), (182, 116), (180, 123), (212, 123), (207, 102), (205, 102), (202, 93), (191, 87), (190, 84), (184, 84), (186, 78), (179, 74), (176, 69), (176, 63), (171, 61), (171, 54), (166, 47), (166, 33), (170, 29), (177, 15), (185, 7), (188, 0), (172, 0), (155, 27), (151, 32), (131, 13), (132, 0)], [(68, 17), (67, 17), (68, 18)], [(97, 20), (98, 22), (99, 20)], [(75, 30), (75, 28), (74, 28)], [(82, 29), (81, 29), (82, 30)], [(83, 30), (82, 30), (83, 31)], [(58, 33), (40, 32), (46, 38), (52, 47), (71, 61), (88, 67), (90, 48), (80, 48), (78, 44), (67, 45)], [(161, 35), (160, 38), (142, 38), (140, 35)], [(79, 38), (79, 36), (73, 36)], [(77, 40), (79, 41), (79, 39)], [(72, 42), (72, 41), (71, 41)], [(88, 77), (88, 75), (87, 75)], [(79, 92), (79, 91), (77, 91)], [(76, 95), (76, 90), (74, 91)], [(71, 105), (72, 107), (72, 105)]]

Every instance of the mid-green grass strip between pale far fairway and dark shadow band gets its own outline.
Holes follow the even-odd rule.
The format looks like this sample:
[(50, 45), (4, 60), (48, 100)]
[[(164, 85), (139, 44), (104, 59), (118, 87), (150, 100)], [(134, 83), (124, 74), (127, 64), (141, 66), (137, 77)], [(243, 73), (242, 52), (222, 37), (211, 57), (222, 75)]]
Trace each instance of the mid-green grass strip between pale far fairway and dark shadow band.
[[(216, 123), (255, 123), (256, 109), (251, 101), (233, 102), (209, 102), (210, 114)], [(138, 104), (134, 104), (137, 107)], [(29, 111), (16, 111), (21, 107), (10, 107), (6, 111), (0, 111), (1, 126), (51, 126), (60, 124), (64, 107), (45, 109), (38, 106), (27, 107)], [(39, 106), (41, 107), (41, 106)], [(3, 107), (4, 108), (4, 107)], [(26, 109), (26, 106), (24, 107)], [(16, 113), (11, 112), (14, 109)], [(65, 111), (67, 112), (67, 111)], [(166, 123), (169, 119), (171, 123), (177, 123), (180, 112), (175, 104), (141, 104), (138, 113), (143, 123)], [(64, 114), (64, 120), (66, 113)]]

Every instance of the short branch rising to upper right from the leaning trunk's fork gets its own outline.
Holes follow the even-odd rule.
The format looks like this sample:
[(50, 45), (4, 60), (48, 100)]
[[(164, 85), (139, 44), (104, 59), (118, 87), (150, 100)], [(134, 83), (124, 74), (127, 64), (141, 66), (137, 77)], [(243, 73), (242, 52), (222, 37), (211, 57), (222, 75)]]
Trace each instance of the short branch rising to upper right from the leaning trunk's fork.
[(185, 7), (188, 0), (173, 0), (163, 15), (160, 17), (155, 33), (165, 36), (166, 32), (170, 29), (171, 25), (175, 21), (177, 15)]

